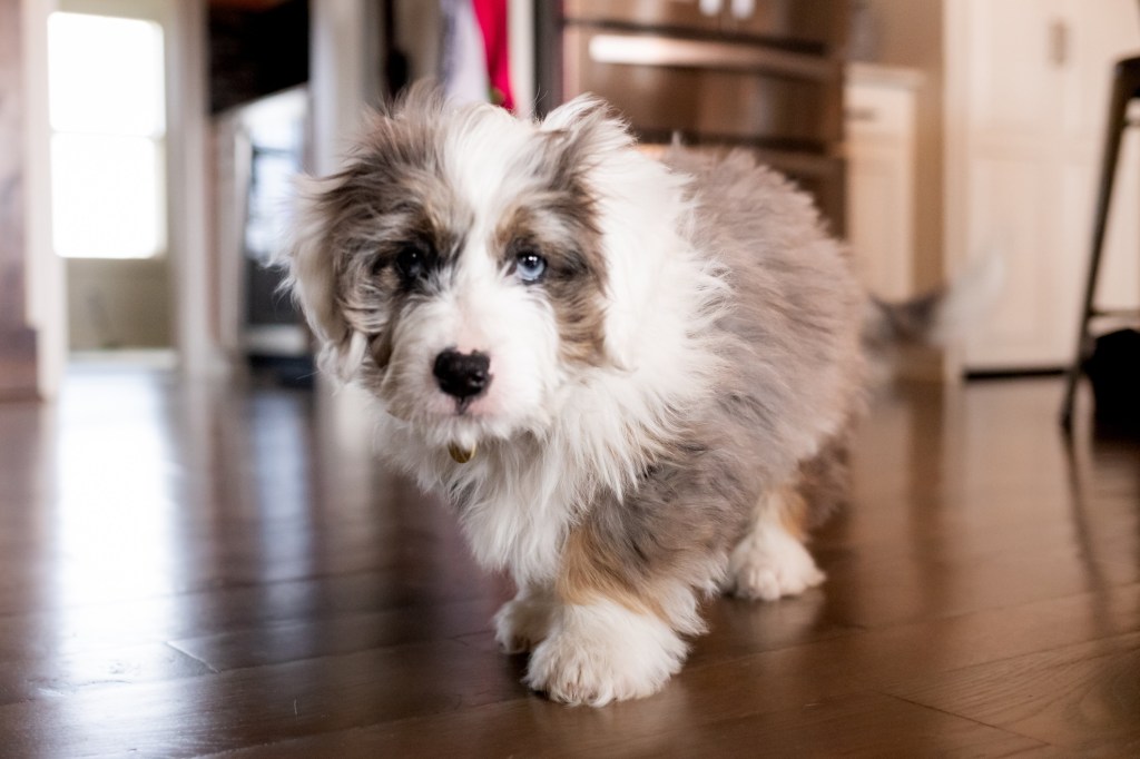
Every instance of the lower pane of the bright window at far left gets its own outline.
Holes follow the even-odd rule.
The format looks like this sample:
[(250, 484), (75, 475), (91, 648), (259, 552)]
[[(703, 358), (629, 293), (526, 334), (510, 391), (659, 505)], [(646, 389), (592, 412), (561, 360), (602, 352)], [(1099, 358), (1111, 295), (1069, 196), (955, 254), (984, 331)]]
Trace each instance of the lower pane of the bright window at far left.
[(56, 253), (140, 259), (162, 252), (166, 240), (161, 152), (145, 137), (52, 136)]

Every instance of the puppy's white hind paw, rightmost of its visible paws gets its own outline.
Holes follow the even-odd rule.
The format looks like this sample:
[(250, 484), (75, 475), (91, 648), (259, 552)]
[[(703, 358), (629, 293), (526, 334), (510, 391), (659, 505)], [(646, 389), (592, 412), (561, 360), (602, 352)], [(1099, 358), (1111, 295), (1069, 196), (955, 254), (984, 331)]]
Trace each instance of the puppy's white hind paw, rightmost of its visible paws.
[(732, 552), (730, 577), (736, 596), (763, 601), (798, 596), (825, 579), (804, 544), (780, 527), (765, 524)]

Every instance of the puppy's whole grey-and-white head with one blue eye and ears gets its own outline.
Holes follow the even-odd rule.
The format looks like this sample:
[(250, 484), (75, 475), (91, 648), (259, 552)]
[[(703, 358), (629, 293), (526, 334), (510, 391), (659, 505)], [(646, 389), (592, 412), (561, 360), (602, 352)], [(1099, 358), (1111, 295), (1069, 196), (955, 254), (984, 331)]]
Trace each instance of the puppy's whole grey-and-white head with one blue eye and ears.
[(542, 430), (635, 338), (605, 229), (624, 190), (596, 178), (628, 154), (592, 99), (535, 124), (420, 88), (374, 116), (343, 171), (301, 187), (292, 283), (323, 367), (430, 442)]

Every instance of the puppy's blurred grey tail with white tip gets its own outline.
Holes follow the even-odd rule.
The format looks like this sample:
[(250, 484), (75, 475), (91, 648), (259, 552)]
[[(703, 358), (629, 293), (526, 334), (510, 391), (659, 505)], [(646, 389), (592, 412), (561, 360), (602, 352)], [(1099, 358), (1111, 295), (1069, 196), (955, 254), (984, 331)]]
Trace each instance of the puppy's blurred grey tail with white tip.
[(945, 345), (966, 336), (993, 309), (1005, 283), (1005, 260), (988, 255), (950, 285), (907, 301), (868, 299), (863, 343), (874, 352), (899, 345)]

